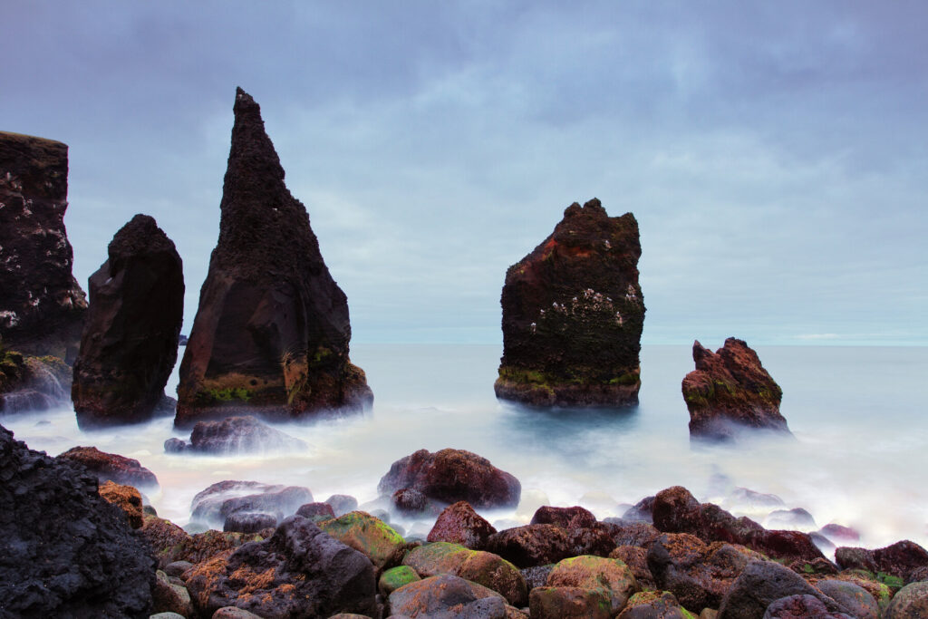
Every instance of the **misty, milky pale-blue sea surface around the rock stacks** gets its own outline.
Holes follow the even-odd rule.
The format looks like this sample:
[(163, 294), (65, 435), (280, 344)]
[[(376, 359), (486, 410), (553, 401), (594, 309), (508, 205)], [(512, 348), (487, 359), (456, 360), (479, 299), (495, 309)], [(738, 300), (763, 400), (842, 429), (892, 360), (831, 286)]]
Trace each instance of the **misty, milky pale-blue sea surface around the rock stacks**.
[[(703, 342), (715, 348), (722, 342)], [(302, 453), (260, 456), (165, 454), (172, 418), (82, 432), (71, 408), (0, 418), (33, 449), (74, 445), (137, 458), (161, 489), (148, 493), (159, 515), (181, 525), (190, 500), (226, 479), (303, 485), (316, 500), (358, 498), (368, 510), (393, 461), (420, 448), (468, 449), (522, 482), (518, 509), (483, 511), (497, 525), (527, 523), (543, 504), (583, 505), (599, 518), (671, 485), (685, 485), (737, 515), (765, 522), (771, 509), (804, 508), (815, 530), (830, 522), (857, 529), (860, 545), (899, 539), (928, 547), (928, 348), (757, 346), (780, 383), (780, 411), (794, 439), (758, 434), (737, 445), (690, 445), (680, 381), (693, 368), (690, 346), (645, 346), (640, 406), (625, 410), (538, 411), (496, 401), (496, 345), (354, 344), (373, 408), (341, 418), (277, 428), (302, 438)], [(173, 393), (175, 375), (168, 385)], [(737, 488), (782, 504), (738, 498)], [(406, 534), (432, 522), (394, 516)], [(774, 522), (767, 520), (771, 528)], [(497, 527), (498, 528), (498, 527)]]

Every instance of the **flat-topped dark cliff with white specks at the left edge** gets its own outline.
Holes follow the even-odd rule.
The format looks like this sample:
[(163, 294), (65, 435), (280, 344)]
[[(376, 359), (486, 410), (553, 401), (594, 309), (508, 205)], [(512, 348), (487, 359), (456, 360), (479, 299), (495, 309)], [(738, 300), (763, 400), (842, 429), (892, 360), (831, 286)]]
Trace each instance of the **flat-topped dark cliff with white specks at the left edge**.
[(0, 132), (0, 339), (72, 363), (87, 302), (64, 227), (68, 147)]

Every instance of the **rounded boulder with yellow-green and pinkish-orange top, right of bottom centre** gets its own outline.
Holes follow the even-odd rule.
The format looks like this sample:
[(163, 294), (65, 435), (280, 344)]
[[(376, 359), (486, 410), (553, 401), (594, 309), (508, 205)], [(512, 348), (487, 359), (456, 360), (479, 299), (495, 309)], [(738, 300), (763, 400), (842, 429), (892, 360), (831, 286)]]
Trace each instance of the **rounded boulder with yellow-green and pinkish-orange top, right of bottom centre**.
[(548, 574), (548, 587), (583, 587), (601, 592), (609, 600), (611, 613), (619, 613), (638, 582), (628, 566), (618, 559), (583, 555), (564, 559)]

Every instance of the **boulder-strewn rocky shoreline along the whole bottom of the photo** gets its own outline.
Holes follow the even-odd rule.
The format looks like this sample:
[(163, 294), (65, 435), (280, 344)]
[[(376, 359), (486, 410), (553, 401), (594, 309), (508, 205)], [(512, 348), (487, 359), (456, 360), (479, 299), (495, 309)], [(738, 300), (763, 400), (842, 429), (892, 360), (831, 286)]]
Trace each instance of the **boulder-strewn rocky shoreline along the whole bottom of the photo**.
[[(157, 481), (131, 458), (89, 447), (48, 458), (6, 430), (0, 438), (0, 489), (9, 495), (5, 504), (15, 506), (12, 519), (0, 518), (8, 547), (0, 616), (43, 609), (52, 616), (159, 619), (898, 619), (928, 612), (928, 552), (921, 546), (902, 540), (833, 548), (829, 538), (849, 540), (855, 532), (836, 525), (812, 534), (767, 529), (701, 503), (681, 486), (642, 499), (623, 518), (542, 506), (529, 524), (497, 531), (478, 509), (518, 503), (518, 480), (467, 451), (421, 450), (385, 471), (380, 504), (388, 509), (359, 509), (350, 496), (316, 501), (298, 486), (227, 481), (194, 498), (191, 517), (201, 524), (185, 530), (143, 505), (132, 484)], [(52, 480), (64, 487), (50, 488)], [(80, 501), (96, 507), (78, 508)], [(404, 536), (390, 522), (401, 513), (432, 514), (435, 523), (428, 535)], [(57, 535), (49, 521), (62, 518), (72, 528), (90, 518), (96, 537)], [(105, 540), (121, 536), (110, 559), (123, 564), (121, 575), (108, 580), (117, 588), (132, 583), (134, 594), (103, 600), (81, 583), (110, 576), (114, 566), (94, 561), (112, 555)], [(79, 552), (72, 548), (78, 538)], [(834, 561), (822, 548), (830, 556), (833, 549)], [(49, 559), (65, 557), (66, 571), (80, 577), (41, 573)]]

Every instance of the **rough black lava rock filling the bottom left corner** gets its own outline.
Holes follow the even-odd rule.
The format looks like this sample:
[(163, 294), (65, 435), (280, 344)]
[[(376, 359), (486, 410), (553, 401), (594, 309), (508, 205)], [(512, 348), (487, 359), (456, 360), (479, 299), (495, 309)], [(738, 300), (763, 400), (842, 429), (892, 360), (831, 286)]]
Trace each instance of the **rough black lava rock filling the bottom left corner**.
[(148, 544), (84, 467), (0, 426), (0, 505), (0, 614), (148, 617)]

